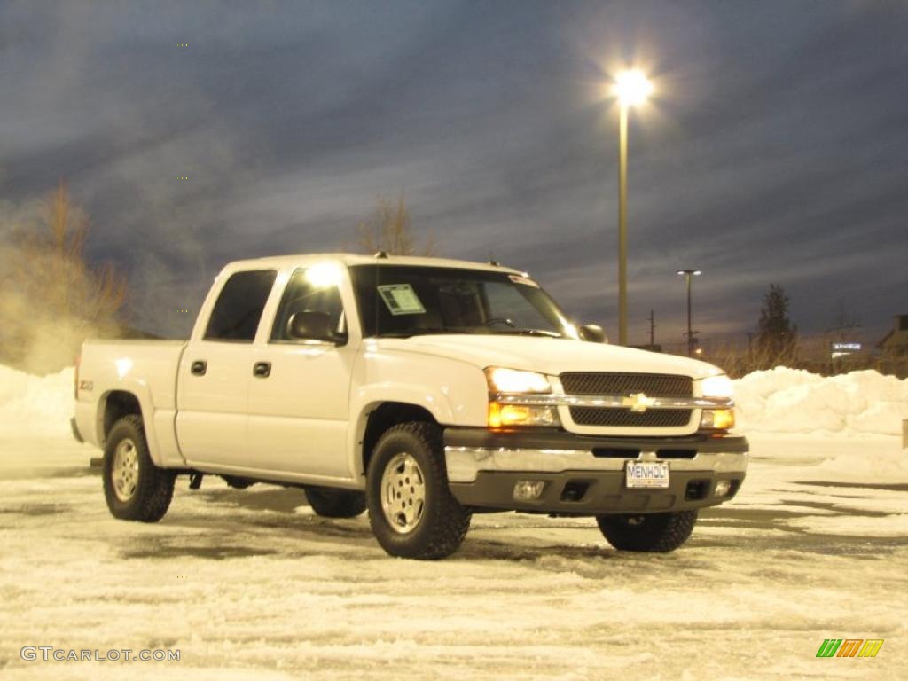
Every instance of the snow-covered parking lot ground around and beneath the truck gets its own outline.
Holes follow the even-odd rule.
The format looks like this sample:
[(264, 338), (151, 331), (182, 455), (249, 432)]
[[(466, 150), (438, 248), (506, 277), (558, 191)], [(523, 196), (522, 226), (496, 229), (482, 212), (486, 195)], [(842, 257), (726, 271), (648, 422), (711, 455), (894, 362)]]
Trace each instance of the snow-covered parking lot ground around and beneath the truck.
[[(748, 426), (745, 486), (673, 554), (619, 553), (587, 519), (494, 514), (474, 518), (454, 557), (422, 563), (385, 555), (365, 517), (318, 518), (300, 491), (264, 485), (181, 480), (162, 522), (114, 520), (87, 465), (97, 452), (39, 410), (66, 405), (71, 374), (18, 377), (32, 397), (17, 400), (8, 371), (4, 678), (905, 677), (908, 451), (888, 421), (868, 432), (849, 419), (878, 401), (903, 413), (904, 393), (862, 393), (837, 429), (779, 433), (743, 391), (745, 422), (763, 424)], [(760, 377), (739, 390), (752, 381), (771, 404), (798, 389), (786, 371), (776, 390)], [(885, 643), (872, 659), (816, 658), (832, 637)], [(170, 648), (181, 661), (26, 662), (23, 646)]]

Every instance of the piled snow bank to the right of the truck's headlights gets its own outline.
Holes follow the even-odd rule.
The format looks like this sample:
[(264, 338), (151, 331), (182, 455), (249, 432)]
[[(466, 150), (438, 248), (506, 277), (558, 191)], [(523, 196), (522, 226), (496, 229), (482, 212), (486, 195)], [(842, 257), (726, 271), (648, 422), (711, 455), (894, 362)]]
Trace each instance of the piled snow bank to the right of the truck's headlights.
[(824, 377), (776, 367), (736, 380), (735, 402), (745, 432), (898, 435), (908, 419), (908, 380), (873, 370)]

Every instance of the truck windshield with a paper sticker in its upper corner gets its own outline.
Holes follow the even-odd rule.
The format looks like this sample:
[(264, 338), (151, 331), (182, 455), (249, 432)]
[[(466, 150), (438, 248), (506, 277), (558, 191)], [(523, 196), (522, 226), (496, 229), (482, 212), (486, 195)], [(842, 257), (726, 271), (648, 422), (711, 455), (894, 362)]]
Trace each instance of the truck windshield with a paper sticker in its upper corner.
[(366, 338), (482, 333), (577, 340), (548, 293), (507, 271), (356, 265), (350, 277)]

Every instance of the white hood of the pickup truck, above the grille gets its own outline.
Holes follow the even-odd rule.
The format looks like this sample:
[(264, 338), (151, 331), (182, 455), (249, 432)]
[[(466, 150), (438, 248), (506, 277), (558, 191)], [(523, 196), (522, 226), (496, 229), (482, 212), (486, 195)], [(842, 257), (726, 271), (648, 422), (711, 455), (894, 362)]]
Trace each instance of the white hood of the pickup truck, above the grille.
[(466, 361), (479, 369), (508, 367), (558, 375), (564, 371), (668, 373), (706, 378), (723, 373), (712, 364), (617, 345), (535, 336), (450, 334), (381, 339), (382, 350), (419, 352)]

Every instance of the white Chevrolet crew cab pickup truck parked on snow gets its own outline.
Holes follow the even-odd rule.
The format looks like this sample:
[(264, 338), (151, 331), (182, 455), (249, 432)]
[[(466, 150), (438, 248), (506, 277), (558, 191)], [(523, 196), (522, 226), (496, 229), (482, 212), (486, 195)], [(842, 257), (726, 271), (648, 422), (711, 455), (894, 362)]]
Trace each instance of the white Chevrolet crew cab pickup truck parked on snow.
[(407, 558), (448, 556), (490, 510), (669, 551), (747, 463), (721, 370), (608, 345), (495, 263), (233, 262), (189, 341), (86, 341), (75, 383), (114, 517), (159, 520), (177, 476), (217, 475), (304, 489), (330, 518), (368, 508)]

